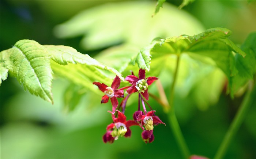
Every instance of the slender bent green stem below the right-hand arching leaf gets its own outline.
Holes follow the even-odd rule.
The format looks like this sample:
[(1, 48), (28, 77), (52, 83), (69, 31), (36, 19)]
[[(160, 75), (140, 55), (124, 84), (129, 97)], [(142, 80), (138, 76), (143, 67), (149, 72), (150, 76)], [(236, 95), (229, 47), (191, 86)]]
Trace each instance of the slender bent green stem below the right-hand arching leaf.
[(175, 112), (174, 112), (174, 107), (173, 107), (173, 99), (174, 99), (174, 87), (177, 81), (177, 74), (178, 74), (178, 68), (180, 65), (180, 55), (177, 55), (177, 63), (176, 63), (176, 68), (174, 71), (174, 75), (173, 75), (173, 83), (171, 86), (171, 90), (170, 90), (170, 97), (169, 97), (169, 123), (170, 123), (170, 127), (173, 130), (174, 136), (176, 138), (176, 141), (178, 143), (178, 146), (180, 147), (180, 150), (182, 152), (182, 155), (184, 158), (189, 158), (190, 156), (190, 152), (188, 149), (188, 146), (185, 142), (184, 136), (182, 135), (180, 126), (178, 124), (178, 120), (176, 118)]

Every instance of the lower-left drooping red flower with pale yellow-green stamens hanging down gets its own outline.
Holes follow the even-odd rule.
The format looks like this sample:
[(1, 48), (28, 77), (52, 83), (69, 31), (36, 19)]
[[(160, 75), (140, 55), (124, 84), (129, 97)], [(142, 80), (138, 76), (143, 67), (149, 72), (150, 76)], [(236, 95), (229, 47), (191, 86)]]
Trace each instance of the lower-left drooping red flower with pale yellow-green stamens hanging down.
[[(135, 122), (134, 120), (127, 120), (126, 121), (126, 116), (118, 110), (117, 110), (117, 112), (118, 112), (118, 117), (117, 118), (112, 113), (112, 119), (113, 119), (114, 123), (111, 123), (107, 126), (107, 131), (110, 132), (112, 138), (114, 138), (115, 140), (117, 140), (119, 136), (121, 136), (121, 137), (122, 136), (130, 137), (131, 136), (131, 130), (130, 130), (129, 127), (133, 126), (133, 125), (139, 125), (139, 124), (137, 122)], [(103, 141), (104, 142), (108, 141), (108, 140), (104, 139), (104, 138), (107, 138), (107, 136), (106, 137), (104, 137), (104, 136), (103, 136)]]

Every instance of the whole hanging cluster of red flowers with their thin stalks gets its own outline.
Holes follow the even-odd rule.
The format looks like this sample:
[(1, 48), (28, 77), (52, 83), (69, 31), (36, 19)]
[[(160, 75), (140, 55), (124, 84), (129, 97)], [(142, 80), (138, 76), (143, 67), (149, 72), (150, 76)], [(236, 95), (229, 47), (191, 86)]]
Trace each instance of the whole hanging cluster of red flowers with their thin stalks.
[[(102, 96), (101, 103), (107, 103), (109, 98), (112, 103), (112, 111), (109, 111), (112, 114), (113, 123), (109, 124), (106, 128), (106, 134), (103, 135), (103, 142), (113, 143), (114, 140), (117, 140), (119, 137), (131, 136), (131, 126), (139, 126), (142, 128), (142, 139), (145, 143), (151, 143), (154, 141), (153, 129), (154, 126), (163, 123), (158, 116), (155, 116), (155, 111), (152, 110), (150, 105), (146, 102), (148, 100), (148, 86), (150, 86), (157, 77), (147, 77), (145, 78), (145, 70), (139, 69), (139, 77), (133, 75), (129, 75), (125, 77), (125, 80), (128, 81), (132, 86), (127, 86), (118, 89), (120, 86), (120, 78), (116, 76), (111, 84), (111, 87), (108, 87), (104, 83), (93, 82), (96, 86), (98, 86), (99, 90), (105, 93)], [(124, 97), (124, 89), (128, 94)], [(134, 112), (133, 120), (126, 120), (126, 116), (124, 115), (125, 106), (129, 96), (135, 92), (138, 92), (139, 102), (138, 102), (138, 111)], [(143, 98), (144, 97), (144, 98)], [(117, 98), (123, 98), (122, 102), (118, 107)], [(143, 111), (140, 110), (140, 102), (142, 103)], [(146, 110), (146, 105), (150, 108), (151, 111)], [(122, 109), (122, 112), (119, 111)]]

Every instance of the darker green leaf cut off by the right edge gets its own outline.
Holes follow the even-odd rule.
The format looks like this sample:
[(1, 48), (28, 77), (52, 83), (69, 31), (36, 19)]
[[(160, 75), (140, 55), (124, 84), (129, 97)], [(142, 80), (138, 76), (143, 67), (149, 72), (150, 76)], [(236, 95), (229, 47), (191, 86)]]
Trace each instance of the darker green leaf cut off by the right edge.
[(253, 80), (256, 71), (256, 32), (249, 34), (241, 49), (246, 53), (245, 57), (235, 56), (238, 75), (234, 77), (233, 89), (237, 92), (248, 80)]

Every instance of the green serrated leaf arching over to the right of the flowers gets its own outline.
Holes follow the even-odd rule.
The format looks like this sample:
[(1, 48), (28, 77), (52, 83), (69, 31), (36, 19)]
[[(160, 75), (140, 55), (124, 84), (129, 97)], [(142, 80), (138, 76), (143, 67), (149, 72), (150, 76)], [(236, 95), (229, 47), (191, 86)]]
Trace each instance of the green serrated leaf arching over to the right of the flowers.
[[(139, 54), (144, 55), (143, 60), (140, 59), (140, 56), (137, 56), (136, 62), (140, 68), (145, 68), (144, 59), (147, 59), (147, 63), (149, 63), (151, 56), (153, 60), (161, 56), (172, 54), (180, 56), (182, 53), (187, 53), (193, 59), (216, 65), (222, 69), (229, 79), (231, 89), (234, 86), (233, 77), (238, 72), (232, 51), (239, 53), (237, 56), (242, 55), (242, 58), (245, 53), (228, 39), (230, 34), (231, 31), (228, 29), (212, 28), (194, 36), (182, 35), (166, 39), (158, 38), (152, 42), (150, 47), (142, 49)], [(246, 60), (249, 59), (246, 58)], [(233, 96), (232, 89), (231, 96)]]

